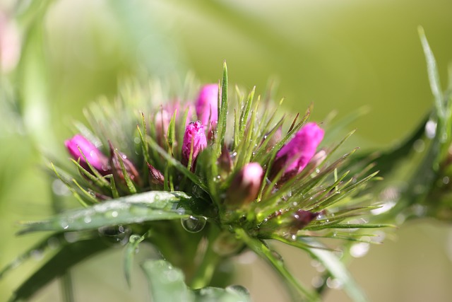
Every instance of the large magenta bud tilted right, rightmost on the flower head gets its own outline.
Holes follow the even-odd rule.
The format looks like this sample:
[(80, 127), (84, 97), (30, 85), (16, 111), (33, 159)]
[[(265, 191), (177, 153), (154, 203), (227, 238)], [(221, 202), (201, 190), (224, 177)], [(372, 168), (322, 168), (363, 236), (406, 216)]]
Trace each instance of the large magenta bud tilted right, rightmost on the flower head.
[(300, 173), (316, 153), (323, 134), (325, 132), (315, 122), (305, 124), (295, 137), (276, 153), (271, 174), (274, 176), (283, 168), (285, 168), (283, 175), (292, 176)]

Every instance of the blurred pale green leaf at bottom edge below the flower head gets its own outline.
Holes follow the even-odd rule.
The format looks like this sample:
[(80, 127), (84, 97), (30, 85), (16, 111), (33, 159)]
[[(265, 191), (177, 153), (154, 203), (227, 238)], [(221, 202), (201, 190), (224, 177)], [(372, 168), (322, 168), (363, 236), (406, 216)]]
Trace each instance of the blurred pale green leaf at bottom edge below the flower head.
[(184, 302), (249, 302), (249, 294), (241, 286), (226, 289), (206, 287), (192, 291), (184, 283), (184, 274), (165, 260), (148, 260), (141, 265), (148, 279), (153, 301)]

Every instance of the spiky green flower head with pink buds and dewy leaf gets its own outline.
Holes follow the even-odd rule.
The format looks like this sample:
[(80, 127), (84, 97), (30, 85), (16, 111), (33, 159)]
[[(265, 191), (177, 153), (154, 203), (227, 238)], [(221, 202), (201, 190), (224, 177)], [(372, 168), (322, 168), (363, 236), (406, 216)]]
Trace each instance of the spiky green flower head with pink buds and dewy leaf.
[[(255, 100), (254, 89), (246, 99), (238, 92), (239, 99), (234, 103), (227, 95), (226, 66), (221, 87), (220, 110), (218, 86), (204, 86), (196, 101), (200, 120), (189, 124), (182, 111), (177, 110), (179, 113), (174, 115), (174, 110), (180, 108), (178, 103), (165, 105), (160, 110), (154, 108), (152, 100), (144, 97), (149, 95), (148, 91), (137, 91), (141, 96), (138, 98), (133, 93), (133, 100), (128, 99), (130, 93), (119, 93), (121, 103), (115, 107), (119, 109), (117, 112), (114, 108), (104, 108), (108, 104), (94, 108), (90, 115), (95, 118), (88, 119), (93, 133), (105, 140), (112, 139), (121, 151), (110, 144), (111, 155), (107, 158), (79, 134), (66, 141), (66, 146), (81, 165), (89, 161), (93, 169), (105, 174), (108, 170), (113, 178), (102, 178), (98, 173), (85, 173), (86, 177), (80, 178), (80, 175), (55, 168), (60, 180), (70, 187), (84, 208), (57, 214), (44, 222), (30, 223), (23, 233), (97, 231), (103, 226), (130, 228), (134, 235), (127, 243), (127, 263), (132, 263), (138, 243), (147, 241), (174, 267), (189, 268), (189, 274), (193, 269), (201, 272), (199, 276), (202, 276), (195, 276), (190, 284), (191, 288), (198, 289), (207, 286), (215, 274), (210, 269), (204, 272), (211, 264), (204, 261), (221, 261), (247, 248), (274, 264), (278, 260), (266, 244), (267, 240), (280, 240), (306, 249), (316, 237), (334, 238), (329, 229), (359, 228), (357, 223), (349, 222), (369, 210), (364, 204), (368, 195), (358, 194), (374, 174), (363, 179), (348, 175), (352, 168), (357, 170), (353, 163), (345, 161), (352, 153), (333, 163), (329, 162), (330, 153), (316, 153), (324, 132), (315, 123), (302, 127), (307, 116), (301, 122), (293, 122), (290, 134), (283, 134), (285, 119), (275, 122), (273, 118), (278, 115), (268, 114), (273, 112), (269, 107), (271, 102), (262, 102), (266, 98), (261, 97)], [(129, 87), (125, 90), (130, 91)], [(237, 107), (231, 108), (234, 105)], [(137, 107), (129, 108), (131, 106)], [(138, 121), (136, 110), (142, 112)], [(231, 111), (235, 118), (232, 124), (228, 117)], [(151, 120), (146, 120), (148, 117)], [(215, 139), (207, 144), (205, 128), (213, 129), (212, 122), (218, 122), (218, 131), (215, 131)], [(155, 123), (156, 131), (148, 132), (147, 125)], [(296, 134), (290, 139), (292, 133)], [(167, 144), (162, 144), (164, 139)], [(283, 145), (281, 141), (287, 144), (280, 150), (275, 149)], [(319, 173), (300, 173), (309, 162), (318, 165), (321, 161), (328, 162)], [(60, 170), (63, 173), (59, 173)], [(290, 181), (275, 180), (275, 175), (283, 174), (288, 180), (298, 173), (299, 177)], [(353, 198), (355, 196), (359, 198)], [(180, 220), (182, 228), (198, 236), (185, 236), (179, 223), (166, 223), (168, 220)], [(153, 236), (148, 236), (150, 231)], [(310, 237), (309, 242), (305, 240), (307, 237)], [(188, 242), (193, 244), (186, 244)], [(199, 248), (206, 246), (206, 249)], [(209, 254), (201, 255), (201, 264), (196, 267), (198, 263), (193, 261), (193, 255), (200, 250)], [(210, 257), (210, 252), (218, 255)], [(277, 265), (275, 269), (282, 272), (284, 268)], [(126, 275), (129, 273), (127, 271)], [(287, 274), (284, 271), (282, 275)], [(291, 286), (295, 286), (300, 296), (305, 296), (307, 301), (318, 300), (315, 293), (309, 294), (293, 280), (293, 277), (287, 278), (287, 284), (292, 282)]]

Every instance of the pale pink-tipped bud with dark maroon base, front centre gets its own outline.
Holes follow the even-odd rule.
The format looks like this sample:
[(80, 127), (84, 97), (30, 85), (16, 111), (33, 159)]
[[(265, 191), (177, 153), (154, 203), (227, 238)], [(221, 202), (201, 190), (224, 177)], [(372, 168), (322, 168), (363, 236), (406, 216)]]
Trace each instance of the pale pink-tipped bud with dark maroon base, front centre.
[(227, 204), (241, 206), (256, 199), (261, 188), (263, 169), (258, 163), (247, 163), (232, 180), (227, 191)]

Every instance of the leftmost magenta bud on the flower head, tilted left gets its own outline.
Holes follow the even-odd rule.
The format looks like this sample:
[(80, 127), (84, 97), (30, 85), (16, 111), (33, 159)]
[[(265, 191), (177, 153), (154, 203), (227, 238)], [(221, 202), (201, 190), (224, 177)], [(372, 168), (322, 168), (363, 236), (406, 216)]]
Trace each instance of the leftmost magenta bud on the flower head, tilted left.
[(83, 135), (76, 134), (72, 139), (64, 141), (64, 144), (69, 153), (71, 153), (71, 156), (76, 161), (80, 161), (80, 165), (85, 168), (85, 170), (90, 170), (86, 163), (86, 161), (88, 161), (93, 168), (100, 172), (100, 174), (107, 175), (110, 173), (107, 156), (100, 152), (100, 150), (97, 149), (93, 143), (88, 141), (88, 139), (83, 137)]

